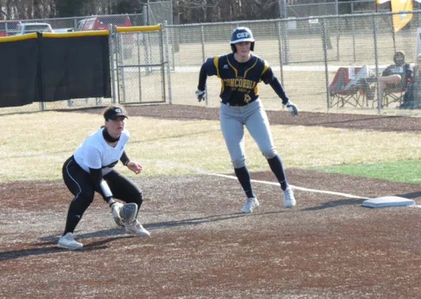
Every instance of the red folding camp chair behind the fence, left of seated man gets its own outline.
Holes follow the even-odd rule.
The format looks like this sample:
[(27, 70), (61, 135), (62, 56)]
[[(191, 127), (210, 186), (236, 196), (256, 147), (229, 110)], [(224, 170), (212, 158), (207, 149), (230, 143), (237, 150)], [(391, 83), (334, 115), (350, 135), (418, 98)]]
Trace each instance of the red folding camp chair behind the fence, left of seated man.
[[(360, 69), (361, 67), (356, 67), (355, 73), (357, 74)], [(360, 101), (360, 91), (362, 85), (357, 83), (348, 89), (345, 89), (350, 81), (351, 79), (349, 78), (349, 67), (339, 67), (336, 71), (332, 83), (329, 85), (329, 107), (344, 107), (347, 103), (354, 107), (363, 107), (363, 104)]]

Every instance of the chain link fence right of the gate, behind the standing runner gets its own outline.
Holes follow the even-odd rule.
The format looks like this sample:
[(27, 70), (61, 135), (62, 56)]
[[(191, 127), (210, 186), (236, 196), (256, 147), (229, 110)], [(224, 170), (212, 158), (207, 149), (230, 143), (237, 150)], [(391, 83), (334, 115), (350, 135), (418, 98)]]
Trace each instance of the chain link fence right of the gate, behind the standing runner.
[[(301, 110), (375, 114), (381, 109), (401, 113), (396, 109), (399, 101), (378, 106), (377, 97), (367, 101), (364, 92), (357, 95), (361, 97), (357, 107), (351, 105), (355, 104), (352, 101), (335, 107), (329, 105), (329, 85), (340, 67), (358, 69), (368, 65), (381, 72), (393, 63), (398, 50), (403, 50), (406, 61), (414, 65), (416, 54), (421, 51), (417, 50), (420, 11), (414, 11), (411, 26), (398, 33), (393, 33), (391, 20), (392, 13), (387, 12), (168, 26), (172, 102), (189, 105), (196, 102), (194, 91), (202, 63), (208, 57), (230, 53), (232, 30), (247, 26), (256, 40), (255, 54), (268, 60)], [(281, 101), (270, 87), (261, 83), (259, 88), (267, 109), (281, 109)], [(207, 89), (207, 103), (218, 106), (220, 80), (209, 78)], [(187, 92), (191, 96), (186, 96)], [(418, 115), (418, 110), (404, 113)]]

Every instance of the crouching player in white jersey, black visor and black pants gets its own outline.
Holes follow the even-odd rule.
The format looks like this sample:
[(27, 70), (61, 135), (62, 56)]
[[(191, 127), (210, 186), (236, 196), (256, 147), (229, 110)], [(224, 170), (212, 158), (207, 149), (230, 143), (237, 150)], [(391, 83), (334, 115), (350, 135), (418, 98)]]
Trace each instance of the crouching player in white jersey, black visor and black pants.
[(104, 112), (105, 126), (88, 136), (64, 162), (63, 179), (67, 188), (75, 196), (67, 212), (66, 227), (58, 240), (60, 248), (75, 249), (83, 247), (73, 238), (73, 232), (81, 220), (83, 213), (99, 192), (111, 208), (112, 216), (119, 226), (125, 226), (127, 233), (140, 237), (150, 236), (149, 232), (136, 219), (124, 224), (120, 218), (122, 204), (114, 198), (127, 203), (142, 204), (142, 191), (129, 179), (118, 173), (114, 166), (120, 160), (135, 174), (143, 168), (130, 161), (124, 148), (129, 140), (129, 133), (124, 129), (126, 112), (122, 107), (110, 106)]

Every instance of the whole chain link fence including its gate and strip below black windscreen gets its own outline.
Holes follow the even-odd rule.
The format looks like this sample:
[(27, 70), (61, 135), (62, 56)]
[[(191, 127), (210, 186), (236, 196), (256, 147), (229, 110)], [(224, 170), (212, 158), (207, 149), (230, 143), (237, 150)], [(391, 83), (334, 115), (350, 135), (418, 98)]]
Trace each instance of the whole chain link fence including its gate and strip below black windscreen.
[[(398, 50), (415, 66), (421, 53), (420, 11), (413, 11), (410, 25), (393, 33), (392, 13), (364, 13), (338, 16), (289, 18), (229, 23), (164, 25), (162, 32), (124, 32), (113, 41), (113, 94), (121, 103), (168, 102), (203, 105), (194, 91), (202, 63), (215, 55), (231, 52), (229, 39), (233, 28), (247, 26), (256, 39), (255, 54), (268, 60), (287, 94), (300, 110), (418, 115), (419, 109), (398, 110), (397, 101), (379, 102), (378, 81), (370, 82), (377, 95), (369, 99), (361, 90), (359, 99), (332, 105), (329, 85), (338, 71), (352, 71), (367, 65), (381, 71), (393, 63)], [(74, 18), (73, 23), (74, 23)], [(165, 22), (164, 22), (165, 23)], [(168, 67), (168, 69), (167, 69)], [(378, 77), (377, 77), (378, 78)], [(281, 109), (280, 99), (268, 85), (259, 84), (266, 109)], [(207, 104), (219, 105), (220, 81), (209, 78)], [(399, 97), (398, 97), (399, 98)], [(48, 103), (47, 109), (107, 105), (111, 99), (77, 99)], [(380, 105), (379, 105), (380, 103)], [(354, 105), (352, 105), (354, 104)], [(356, 106), (356, 107), (355, 107)], [(40, 103), (8, 112), (38, 111)]]

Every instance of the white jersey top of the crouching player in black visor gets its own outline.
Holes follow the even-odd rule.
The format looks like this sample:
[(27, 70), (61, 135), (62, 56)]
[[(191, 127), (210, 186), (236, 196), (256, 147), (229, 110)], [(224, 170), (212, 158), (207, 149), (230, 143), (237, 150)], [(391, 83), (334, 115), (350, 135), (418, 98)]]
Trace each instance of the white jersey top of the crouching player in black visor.
[(101, 128), (89, 135), (74, 151), (73, 156), (76, 163), (87, 173), (89, 168), (101, 168), (105, 176), (118, 163), (130, 135), (127, 130), (123, 130), (117, 144), (112, 147), (105, 141), (103, 130), (104, 128)]

